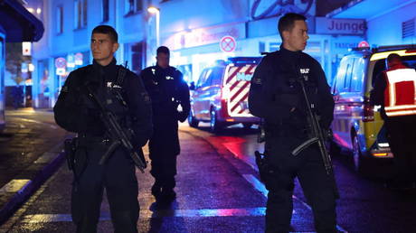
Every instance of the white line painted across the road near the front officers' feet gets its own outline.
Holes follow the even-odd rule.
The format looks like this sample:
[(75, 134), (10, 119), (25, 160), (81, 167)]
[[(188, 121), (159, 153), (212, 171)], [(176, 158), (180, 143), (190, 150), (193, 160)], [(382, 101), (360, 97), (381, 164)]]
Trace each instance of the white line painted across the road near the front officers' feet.
[[(264, 216), (266, 208), (244, 208), (244, 209), (205, 209), (205, 210), (140, 210), (140, 218), (207, 218), (207, 217), (255, 217)], [(99, 220), (110, 220), (109, 212), (101, 212)], [(72, 221), (71, 214), (32, 214), (22, 219), (24, 223), (47, 223)]]

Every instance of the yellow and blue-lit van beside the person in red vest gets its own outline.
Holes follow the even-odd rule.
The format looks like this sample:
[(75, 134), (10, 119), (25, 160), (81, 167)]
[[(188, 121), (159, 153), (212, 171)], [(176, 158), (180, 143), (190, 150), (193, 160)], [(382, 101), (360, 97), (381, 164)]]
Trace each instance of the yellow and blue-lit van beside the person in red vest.
[(369, 101), (374, 80), (386, 69), (385, 59), (392, 52), (401, 55), (407, 66), (416, 69), (416, 45), (383, 46), (372, 50), (356, 48), (340, 61), (332, 83), (336, 103), (333, 145), (353, 152), (357, 172), (364, 172), (370, 159), (393, 156), (380, 107), (372, 107)]

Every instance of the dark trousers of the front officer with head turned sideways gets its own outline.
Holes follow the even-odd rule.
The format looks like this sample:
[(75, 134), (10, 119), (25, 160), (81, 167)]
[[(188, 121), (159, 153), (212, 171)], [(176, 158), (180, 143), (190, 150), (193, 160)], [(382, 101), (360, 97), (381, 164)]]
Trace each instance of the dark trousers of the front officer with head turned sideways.
[(336, 232), (336, 192), (326, 174), (317, 146), (294, 156), (291, 151), (302, 142), (279, 137), (266, 141), (267, 160), (275, 167), (266, 187), (269, 190), (266, 232), (288, 232), (293, 211), (294, 179), (298, 181), (312, 207), (317, 232)]

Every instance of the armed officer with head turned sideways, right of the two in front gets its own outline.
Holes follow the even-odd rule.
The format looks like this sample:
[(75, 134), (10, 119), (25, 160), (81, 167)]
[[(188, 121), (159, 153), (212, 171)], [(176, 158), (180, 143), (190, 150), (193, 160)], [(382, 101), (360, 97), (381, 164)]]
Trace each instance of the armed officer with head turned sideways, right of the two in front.
[(301, 14), (279, 19), (282, 44), (254, 72), (251, 114), (264, 119), (265, 152), (256, 153), (260, 178), (269, 190), (266, 232), (290, 231), (294, 179), (312, 207), (317, 232), (336, 232), (336, 182), (324, 146), (334, 100), (320, 64), (302, 52), (307, 23)]

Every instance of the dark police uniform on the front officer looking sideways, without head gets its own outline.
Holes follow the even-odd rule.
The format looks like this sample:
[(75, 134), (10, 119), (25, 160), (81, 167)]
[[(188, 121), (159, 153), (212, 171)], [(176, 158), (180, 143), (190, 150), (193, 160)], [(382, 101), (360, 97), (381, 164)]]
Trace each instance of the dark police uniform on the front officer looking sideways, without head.
[(289, 231), (296, 176), (312, 206), (317, 231), (335, 232), (336, 192), (317, 144), (297, 156), (291, 154), (308, 139), (307, 106), (297, 82), (300, 74), (307, 77), (308, 97), (316, 105), (321, 126), (329, 128), (334, 100), (320, 64), (306, 53), (281, 46), (262, 59), (251, 79), (249, 107), (265, 120), (265, 159), (273, 168), (266, 181), (266, 232)]

